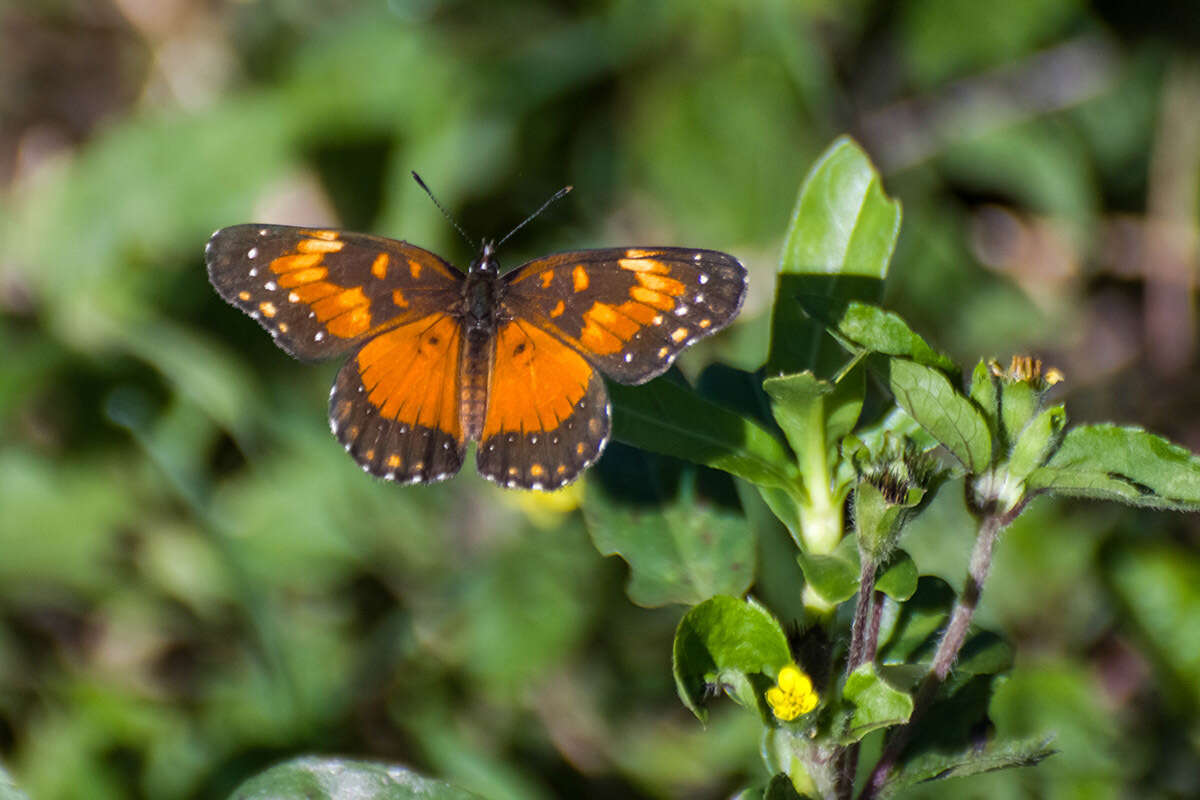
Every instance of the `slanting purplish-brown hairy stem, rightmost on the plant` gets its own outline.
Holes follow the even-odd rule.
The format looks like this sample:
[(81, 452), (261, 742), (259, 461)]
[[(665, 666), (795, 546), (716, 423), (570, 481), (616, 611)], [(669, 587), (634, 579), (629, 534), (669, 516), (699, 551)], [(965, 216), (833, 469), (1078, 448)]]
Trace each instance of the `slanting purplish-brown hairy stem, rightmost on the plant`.
[(991, 554), (996, 547), (996, 539), (1001, 529), (1012, 522), (1019, 510), (1014, 509), (1008, 515), (986, 513), (979, 522), (979, 533), (976, 536), (974, 549), (971, 552), (971, 564), (967, 567), (966, 585), (962, 588), (962, 595), (954, 603), (954, 610), (950, 612), (950, 621), (942, 633), (942, 640), (937, 645), (937, 652), (934, 654), (934, 662), (930, 664), (929, 673), (925, 674), (925, 679), (917, 690), (917, 697), (913, 699), (912, 716), (904, 727), (896, 729), (888, 738), (888, 744), (883, 747), (883, 753), (880, 756), (880, 760), (876, 762), (875, 769), (871, 770), (871, 777), (866, 782), (866, 786), (863, 787), (858, 800), (872, 800), (880, 789), (883, 788), (883, 784), (887, 783), (896, 759), (900, 758), (904, 748), (912, 739), (917, 722), (920, 721), (922, 715), (937, 693), (937, 688), (950, 673), (950, 667), (954, 664), (954, 660), (966, 642), (967, 630), (971, 627), (971, 618), (974, 616), (976, 607), (979, 604), (979, 595), (983, 593), (983, 584), (988, 579), (988, 571), (991, 569)]

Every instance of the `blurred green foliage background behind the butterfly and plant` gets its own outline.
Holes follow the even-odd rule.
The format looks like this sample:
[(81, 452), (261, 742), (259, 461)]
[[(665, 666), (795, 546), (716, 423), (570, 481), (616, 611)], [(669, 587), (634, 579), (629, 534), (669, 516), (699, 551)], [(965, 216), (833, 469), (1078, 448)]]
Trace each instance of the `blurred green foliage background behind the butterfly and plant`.
[[(695, 377), (766, 354), (811, 161), (905, 206), (888, 303), (967, 365), (1064, 371), (1080, 421), (1200, 449), (1189, 0), (8, 0), (0, 5), (0, 759), (35, 800), (223, 798), (298, 753), (490, 798), (720, 798), (758, 723), (683, 709), (578, 512), (365, 477), (304, 366), (209, 287), (240, 222), (473, 253), (672, 243), (750, 269)], [(611, 450), (619, 458), (618, 447)], [(612, 458), (608, 461), (611, 462)], [(605, 465), (601, 464), (600, 469)], [(908, 546), (961, 581), (949, 487)], [(1200, 794), (1192, 517), (1042, 501), (982, 621), (1043, 766), (910, 796)]]

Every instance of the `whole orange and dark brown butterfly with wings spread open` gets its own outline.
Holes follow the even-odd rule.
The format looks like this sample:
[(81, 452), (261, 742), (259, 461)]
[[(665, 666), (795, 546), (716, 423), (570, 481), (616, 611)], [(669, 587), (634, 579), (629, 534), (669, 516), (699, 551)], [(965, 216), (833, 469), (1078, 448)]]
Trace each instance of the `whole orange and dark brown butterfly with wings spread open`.
[(455, 475), (472, 441), (500, 486), (569, 483), (608, 441), (600, 373), (662, 374), (746, 291), (736, 258), (680, 247), (557, 253), (502, 275), (485, 243), (464, 273), (403, 241), (244, 224), (212, 234), (205, 261), (288, 354), (349, 355), (330, 427), (365, 471), (401, 483)]

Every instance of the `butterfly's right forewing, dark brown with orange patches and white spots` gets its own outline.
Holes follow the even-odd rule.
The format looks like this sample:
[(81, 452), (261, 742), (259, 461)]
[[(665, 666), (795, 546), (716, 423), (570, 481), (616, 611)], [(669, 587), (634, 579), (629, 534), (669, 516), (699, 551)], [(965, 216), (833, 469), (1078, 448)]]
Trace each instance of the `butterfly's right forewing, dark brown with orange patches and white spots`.
[(709, 249), (578, 251), (505, 275), (504, 302), (610, 377), (640, 384), (732, 321), (745, 299), (745, 275), (736, 258)]

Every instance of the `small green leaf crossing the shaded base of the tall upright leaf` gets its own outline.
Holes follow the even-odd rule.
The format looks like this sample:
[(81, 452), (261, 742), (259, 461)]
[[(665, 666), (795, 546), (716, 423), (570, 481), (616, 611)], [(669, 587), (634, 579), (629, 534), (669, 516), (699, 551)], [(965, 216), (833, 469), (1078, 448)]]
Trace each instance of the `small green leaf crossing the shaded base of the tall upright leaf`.
[(800, 302), (804, 311), (829, 326), (847, 349), (901, 356), (949, 373), (958, 371), (950, 356), (931, 348), (896, 313), (853, 300), (800, 297)]

